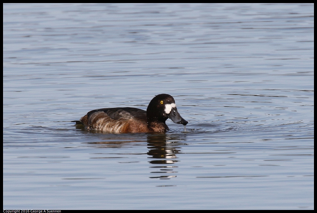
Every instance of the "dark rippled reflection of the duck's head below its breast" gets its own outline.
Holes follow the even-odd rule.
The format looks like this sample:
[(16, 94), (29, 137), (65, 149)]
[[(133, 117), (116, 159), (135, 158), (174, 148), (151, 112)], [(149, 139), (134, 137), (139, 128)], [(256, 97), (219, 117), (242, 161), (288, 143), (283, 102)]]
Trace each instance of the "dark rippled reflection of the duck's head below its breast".
[[(148, 144), (148, 155), (153, 159), (159, 160), (151, 160), (149, 161), (151, 164), (160, 164), (160, 166), (153, 166), (151, 168), (157, 168), (159, 171), (151, 172), (151, 173), (164, 173), (165, 175), (152, 176), (150, 178), (159, 178), (159, 179), (170, 179), (172, 177), (176, 177), (176, 175), (171, 175), (172, 173), (177, 173), (174, 171), (174, 168), (177, 166), (171, 166), (166, 164), (173, 164), (178, 162), (175, 160), (177, 158), (176, 154), (180, 152), (180, 139), (179, 137), (171, 137), (166, 136), (166, 134), (153, 134), (148, 135), (147, 144)], [(182, 143), (184, 145), (184, 143)]]

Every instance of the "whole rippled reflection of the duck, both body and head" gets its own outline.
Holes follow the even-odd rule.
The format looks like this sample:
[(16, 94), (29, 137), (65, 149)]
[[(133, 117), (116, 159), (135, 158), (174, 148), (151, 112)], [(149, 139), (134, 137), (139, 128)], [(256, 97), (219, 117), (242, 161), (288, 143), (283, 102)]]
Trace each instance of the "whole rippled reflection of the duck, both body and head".
[[(85, 132), (85, 131), (83, 131)], [(157, 169), (151, 173), (162, 173), (162, 175), (150, 176), (150, 178), (159, 178), (159, 179), (170, 179), (172, 177), (176, 177), (174, 175), (177, 173), (174, 169), (178, 166), (171, 165), (178, 160), (176, 155), (180, 153), (181, 146), (187, 145), (182, 141), (185, 140), (186, 134), (166, 134), (166, 133), (155, 133), (155, 134), (100, 134), (93, 133), (96, 135), (100, 135), (103, 137), (102, 141), (98, 142), (89, 142), (87, 144), (92, 145), (96, 148), (106, 148), (106, 149), (124, 149), (127, 147), (135, 147), (139, 146), (139, 144), (144, 144), (147, 142), (148, 152), (147, 155), (150, 155), (148, 158), (152, 158), (153, 160), (149, 161), (150, 164), (157, 164), (157, 166), (151, 166), (150, 168)], [(135, 136), (138, 136), (136, 139)], [(146, 136), (146, 137), (144, 137)], [(143, 145), (142, 145), (143, 146)], [(127, 153), (108, 153), (108, 152), (97, 152), (93, 153), (97, 157), (90, 157), (91, 159), (111, 159), (111, 158), (130, 158), (124, 157)], [(129, 153), (128, 155), (144, 155), (145, 153)], [(114, 155), (114, 156), (113, 156)], [(120, 155), (120, 156), (117, 156)], [(131, 162), (131, 161), (126, 161)], [(132, 161), (139, 162), (139, 161)]]

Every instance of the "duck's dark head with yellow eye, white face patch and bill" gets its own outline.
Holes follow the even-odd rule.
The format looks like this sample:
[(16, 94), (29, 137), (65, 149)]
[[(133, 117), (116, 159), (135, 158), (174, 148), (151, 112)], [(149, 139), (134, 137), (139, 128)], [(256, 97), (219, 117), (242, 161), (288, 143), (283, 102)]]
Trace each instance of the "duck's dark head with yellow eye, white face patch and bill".
[(174, 98), (169, 94), (156, 95), (146, 109), (147, 121), (165, 121), (170, 118), (175, 124), (188, 124), (177, 112)]

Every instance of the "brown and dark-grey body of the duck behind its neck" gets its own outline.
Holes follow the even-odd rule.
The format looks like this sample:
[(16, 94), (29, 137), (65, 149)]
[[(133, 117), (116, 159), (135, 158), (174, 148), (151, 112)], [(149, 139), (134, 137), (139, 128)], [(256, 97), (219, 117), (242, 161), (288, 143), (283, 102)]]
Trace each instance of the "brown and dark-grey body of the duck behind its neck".
[(87, 129), (112, 132), (148, 132), (146, 111), (132, 107), (96, 109), (87, 113), (80, 122)]

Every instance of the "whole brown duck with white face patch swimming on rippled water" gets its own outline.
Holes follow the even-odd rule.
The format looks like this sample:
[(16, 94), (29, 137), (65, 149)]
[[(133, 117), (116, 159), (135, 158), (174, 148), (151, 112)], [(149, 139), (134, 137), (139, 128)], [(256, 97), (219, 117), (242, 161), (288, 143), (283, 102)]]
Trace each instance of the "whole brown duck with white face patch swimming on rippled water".
[(80, 120), (76, 127), (105, 133), (151, 133), (169, 130), (165, 121), (171, 119), (186, 128), (188, 121), (178, 113), (175, 100), (169, 94), (158, 94), (150, 101), (146, 111), (133, 107), (95, 109)]

